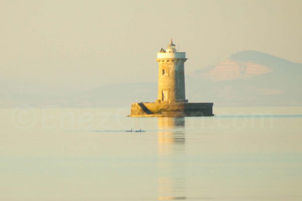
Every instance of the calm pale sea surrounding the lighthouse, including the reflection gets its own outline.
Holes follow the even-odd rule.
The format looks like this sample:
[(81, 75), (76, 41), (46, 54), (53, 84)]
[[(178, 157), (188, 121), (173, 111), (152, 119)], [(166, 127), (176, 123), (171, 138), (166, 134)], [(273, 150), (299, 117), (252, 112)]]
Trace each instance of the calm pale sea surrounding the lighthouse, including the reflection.
[(302, 200), (302, 107), (214, 113), (1, 109), (0, 200)]

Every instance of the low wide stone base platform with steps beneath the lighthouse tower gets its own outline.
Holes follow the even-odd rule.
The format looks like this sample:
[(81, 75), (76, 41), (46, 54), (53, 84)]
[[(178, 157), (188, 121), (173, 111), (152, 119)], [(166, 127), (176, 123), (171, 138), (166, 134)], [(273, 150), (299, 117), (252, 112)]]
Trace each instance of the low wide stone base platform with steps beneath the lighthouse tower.
[(213, 103), (133, 103), (129, 117), (214, 116)]

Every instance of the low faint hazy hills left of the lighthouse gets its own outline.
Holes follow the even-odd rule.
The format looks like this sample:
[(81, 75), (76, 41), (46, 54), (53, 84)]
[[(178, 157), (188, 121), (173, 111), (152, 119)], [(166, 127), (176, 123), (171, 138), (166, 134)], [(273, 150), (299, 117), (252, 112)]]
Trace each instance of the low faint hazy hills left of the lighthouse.
[(128, 107), (133, 102), (154, 102), (157, 83), (104, 85), (85, 92), (65, 95), (11, 93), (0, 96), (0, 108), (21, 105), (32, 107)]

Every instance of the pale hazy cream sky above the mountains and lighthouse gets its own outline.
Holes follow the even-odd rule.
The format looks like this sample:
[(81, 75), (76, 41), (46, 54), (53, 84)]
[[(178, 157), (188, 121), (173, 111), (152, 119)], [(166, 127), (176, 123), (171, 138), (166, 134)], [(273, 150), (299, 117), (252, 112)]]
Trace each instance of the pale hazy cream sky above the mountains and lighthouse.
[(243, 50), (302, 63), (302, 1), (2, 0), (0, 27), (4, 92), (156, 82), (170, 38), (186, 72)]

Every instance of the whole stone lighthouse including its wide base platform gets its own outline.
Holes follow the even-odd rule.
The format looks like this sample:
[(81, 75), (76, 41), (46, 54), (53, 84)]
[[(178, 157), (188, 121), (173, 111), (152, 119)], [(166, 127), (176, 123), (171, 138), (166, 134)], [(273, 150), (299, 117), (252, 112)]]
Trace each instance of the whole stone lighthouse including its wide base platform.
[[(185, 52), (178, 52), (171, 39), (157, 53), (158, 96), (154, 103), (132, 103), (129, 117), (213, 116), (213, 103), (188, 103), (185, 89)], [(202, 92), (202, 91), (200, 91)]]

